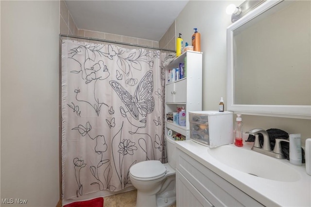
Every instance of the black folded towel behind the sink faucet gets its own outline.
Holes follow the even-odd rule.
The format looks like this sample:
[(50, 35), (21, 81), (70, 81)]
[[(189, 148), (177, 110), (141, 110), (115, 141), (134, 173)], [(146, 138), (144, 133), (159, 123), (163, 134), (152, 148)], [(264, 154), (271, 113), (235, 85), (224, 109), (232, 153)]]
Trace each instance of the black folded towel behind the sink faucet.
[[(270, 144), (272, 150), (274, 149), (274, 146), (276, 145), (276, 138), (284, 138), (288, 139), (289, 135), (287, 132), (280, 130), (280, 129), (268, 129), (267, 133), (270, 138)], [(249, 135), (248, 139), (246, 140), (247, 142), (254, 142), (255, 141), (255, 136), (254, 135)], [(259, 134), (259, 142), (262, 146), (263, 144), (263, 135)], [(286, 159), (290, 160), (290, 143), (281, 141), (281, 147), (283, 154), (286, 156)], [(301, 148), (301, 154), (302, 154), (302, 163), (305, 163), (305, 151)]]

